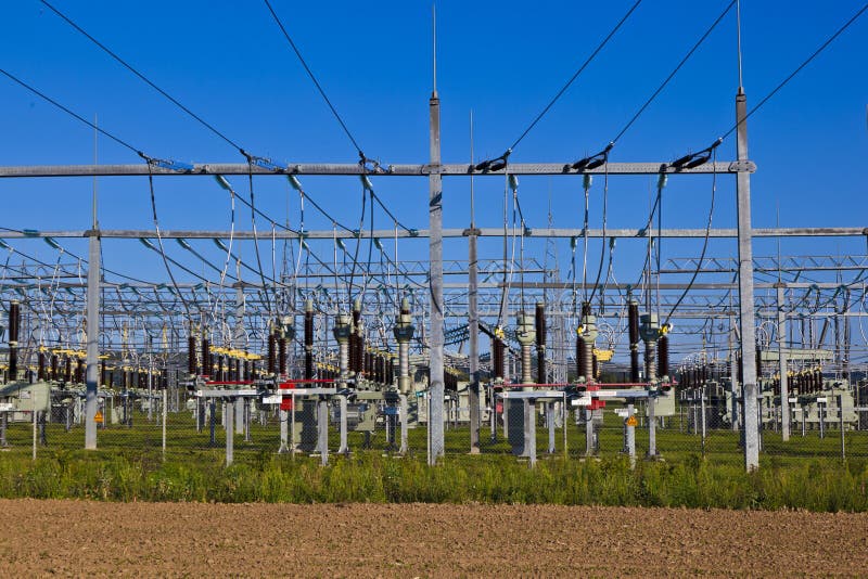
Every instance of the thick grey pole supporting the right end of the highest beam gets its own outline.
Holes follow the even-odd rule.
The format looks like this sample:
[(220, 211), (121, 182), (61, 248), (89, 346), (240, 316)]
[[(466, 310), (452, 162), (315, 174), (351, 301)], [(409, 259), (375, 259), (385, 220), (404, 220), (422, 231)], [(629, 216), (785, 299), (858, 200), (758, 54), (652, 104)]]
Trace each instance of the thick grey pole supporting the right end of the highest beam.
[(739, 172), (736, 180), (739, 240), (739, 330), (741, 334), (742, 400), (744, 424), (744, 467), (760, 467), (760, 430), (756, 397), (756, 344), (754, 333), (753, 247), (751, 234), (751, 173), (748, 171), (748, 98), (739, 87), (736, 95), (738, 123), (737, 153)]

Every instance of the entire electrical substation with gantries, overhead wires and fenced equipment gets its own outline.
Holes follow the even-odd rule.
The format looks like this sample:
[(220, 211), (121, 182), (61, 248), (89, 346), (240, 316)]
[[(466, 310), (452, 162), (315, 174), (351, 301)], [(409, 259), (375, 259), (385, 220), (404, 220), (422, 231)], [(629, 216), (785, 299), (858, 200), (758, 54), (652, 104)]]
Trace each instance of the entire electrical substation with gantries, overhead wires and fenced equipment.
[[(468, 160), (444, 163), (435, 63), (430, 157), (369, 158), (326, 98), (359, 155), (337, 164), (251, 152), (47, 3), (235, 157), (151, 156), (62, 94), (3, 70), (10, 87), (60, 107), (131, 162), (0, 166), (0, 182), (94, 183), (92, 197), (76, 194), (91, 206), (77, 229), (4, 219), (0, 447), (33, 443), (36, 453), (63, 439), (98, 450), (113, 433), (149, 428), (162, 430), (164, 450), (213, 449), (227, 464), (245, 448), (323, 464), (371, 449), (430, 464), (493, 452), (531, 465), (569, 452), (656, 460), (673, 449), (666, 437), (701, 439), (704, 451), (712, 433), (726, 433), (720, 443), (748, 469), (769, 441), (786, 452), (850, 436), (851, 450), (865, 452), (868, 255), (754, 255), (756, 241), (766, 252), (781, 241), (868, 240), (865, 224), (752, 227), (751, 178), (761, 167), (749, 154), (749, 120), (774, 92), (751, 108), (733, 86), (731, 128), (695, 153), (620, 158), (622, 136), (736, 4), (593, 154), (518, 162), (519, 143), (547, 107), (502, 155), (478, 159), (471, 150)], [(97, 179), (146, 196), (153, 227), (102, 228)], [(611, 227), (607, 211), (629, 179), (653, 183), (648, 207)], [(159, 200), (193, 180), (207, 181), (228, 219), (212, 229), (162, 227)], [(394, 181), (414, 192), (426, 220), (405, 221), (381, 193)], [(567, 183), (584, 213), (550, 208), (545, 222), (526, 221), (522, 209), (545, 204), (550, 182)], [(664, 227), (676, 182), (711, 200), (704, 227)], [(278, 186), (288, 200), (281, 213), (260, 193)], [(461, 194), (445, 196), (448, 188)], [(324, 208), (335, 195), (353, 209)], [(470, 208), (469, 222), (444, 226), (450, 203)], [(735, 227), (713, 224), (715, 204), (736, 208)], [(67, 247), (76, 243), (86, 255)], [(132, 258), (107, 265), (106, 248), (131, 245), (158, 265), (158, 276), (139, 274)], [(36, 247), (53, 258), (38, 258)], [(685, 247), (688, 255), (675, 253)], [(176, 440), (176, 432), (184, 434)]]

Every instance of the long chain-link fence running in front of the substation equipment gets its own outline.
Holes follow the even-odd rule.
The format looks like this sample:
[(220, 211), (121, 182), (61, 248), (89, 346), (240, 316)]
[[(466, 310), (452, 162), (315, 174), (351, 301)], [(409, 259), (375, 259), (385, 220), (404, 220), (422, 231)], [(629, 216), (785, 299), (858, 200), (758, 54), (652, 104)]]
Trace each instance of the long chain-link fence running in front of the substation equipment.
[[(0, 407), (0, 447), (35, 450), (37, 456), (43, 450), (81, 449), (81, 394), (31, 386), (7, 396)], [(426, 393), (404, 397), (382, 391), (310, 391), (264, 396), (240, 389), (197, 396), (178, 385), (150, 391), (104, 390), (97, 414), (98, 447), (128, 455), (165, 452), (180, 460), (190, 453), (206, 454), (227, 462), (271, 454), (314, 456), (322, 462), (356, 452), (429, 455)], [(483, 389), (474, 441), (467, 390), (447, 391), (446, 454), (461, 460), (473, 460), (475, 454), (518, 460), (631, 454), (637, 460), (666, 461), (701, 455), (713, 462), (743, 462), (744, 421), (739, 400), (725, 391), (710, 387), (660, 398), (604, 398), (595, 397), (587, 404), (561, 391)], [(762, 454), (792, 461), (868, 458), (868, 408), (857, 406), (863, 402), (859, 398), (840, 394), (791, 398), (789, 416), (775, 402), (767, 397), (760, 403)]]

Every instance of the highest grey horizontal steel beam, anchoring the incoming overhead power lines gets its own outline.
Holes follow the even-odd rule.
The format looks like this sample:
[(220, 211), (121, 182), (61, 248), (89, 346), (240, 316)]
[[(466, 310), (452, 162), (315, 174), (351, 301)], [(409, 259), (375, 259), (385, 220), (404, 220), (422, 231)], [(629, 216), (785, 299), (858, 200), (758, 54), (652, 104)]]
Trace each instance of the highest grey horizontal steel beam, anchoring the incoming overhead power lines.
[(499, 171), (475, 171), (471, 165), (388, 165), (381, 171), (371, 171), (355, 164), (298, 163), (288, 164), (285, 169), (269, 170), (246, 163), (197, 163), (192, 170), (176, 171), (145, 163), (135, 165), (25, 165), (0, 167), (0, 177), (135, 177), (148, 175), (195, 176), (195, 175), (371, 175), (376, 177), (403, 176), (424, 177), (431, 173), (461, 175), (658, 175), (666, 173), (736, 173), (739, 170), (753, 172), (756, 166), (748, 162), (706, 163), (693, 169), (676, 169), (666, 163), (609, 163), (596, 169), (576, 172), (566, 168), (570, 163), (511, 163)]

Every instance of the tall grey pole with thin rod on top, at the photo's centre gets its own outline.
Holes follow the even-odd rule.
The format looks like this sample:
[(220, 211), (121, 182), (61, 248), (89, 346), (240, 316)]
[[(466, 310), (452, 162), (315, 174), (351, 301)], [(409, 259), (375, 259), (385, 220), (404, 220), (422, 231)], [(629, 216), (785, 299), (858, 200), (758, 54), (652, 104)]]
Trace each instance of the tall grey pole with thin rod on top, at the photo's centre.
[(434, 87), (429, 100), (431, 173), (429, 175), (429, 260), (431, 262), (431, 331), (429, 334), (431, 381), (429, 383), (429, 464), (445, 450), (443, 432), (443, 178), (441, 167), (441, 100), (437, 97), (437, 36), (434, 20)]

